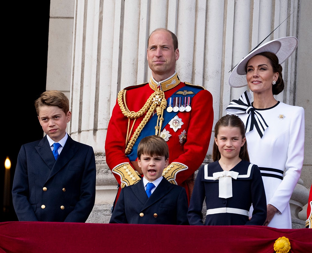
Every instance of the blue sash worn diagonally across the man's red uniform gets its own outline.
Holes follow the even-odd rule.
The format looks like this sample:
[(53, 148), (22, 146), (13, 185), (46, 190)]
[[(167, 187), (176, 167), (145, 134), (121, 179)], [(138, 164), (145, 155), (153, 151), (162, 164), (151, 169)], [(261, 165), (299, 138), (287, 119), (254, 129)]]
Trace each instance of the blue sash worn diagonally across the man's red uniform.
[[(179, 91), (192, 91), (192, 94), (182, 94), (182, 92)], [(196, 87), (196, 86), (184, 86), (181, 89), (179, 89), (178, 91), (176, 91), (171, 97), (193, 97), (197, 94), (198, 91), (201, 91), (202, 88), (201, 87)], [(181, 93), (181, 94), (177, 94), (177, 93)], [(168, 105), (168, 100), (167, 99), (167, 105)], [(179, 112), (179, 111), (178, 111)], [(164, 127), (169, 123), (169, 121), (175, 116), (177, 115), (178, 112), (167, 112), (167, 110), (163, 111), (163, 125), (162, 125), (162, 129), (160, 129), (160, 131), (162, 131), (164, 129)], [(127, 157), (129, 158), (130, 161), (135, 161), (136, 158), (138, 157), (138, 145), (141, 141), (141, 139), (143, 139), (146, 136), (150, 136), (150, 135), (154, 135), (155, 134), (155, 126), (157, 123), (157, 119), (158, 116), (157, 114), (154, 114), (149, 121), (145, 124), (144, 128), (142, 129), (141, 133), (139, 134), (136, 142), (134, 143), (134, 146), (131, 150), (131, 152), (127, 155)]]

